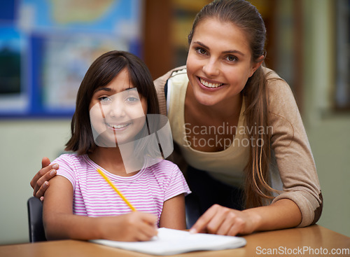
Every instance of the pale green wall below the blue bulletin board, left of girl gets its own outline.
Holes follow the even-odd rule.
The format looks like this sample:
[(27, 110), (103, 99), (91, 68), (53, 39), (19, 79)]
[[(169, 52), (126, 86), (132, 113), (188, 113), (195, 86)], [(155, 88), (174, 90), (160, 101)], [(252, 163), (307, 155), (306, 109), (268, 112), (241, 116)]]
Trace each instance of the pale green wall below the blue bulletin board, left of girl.
[(0, 244), (29, 242), (27, 200), (31, 178), (63, 151), (69, 120), (0, 120)]

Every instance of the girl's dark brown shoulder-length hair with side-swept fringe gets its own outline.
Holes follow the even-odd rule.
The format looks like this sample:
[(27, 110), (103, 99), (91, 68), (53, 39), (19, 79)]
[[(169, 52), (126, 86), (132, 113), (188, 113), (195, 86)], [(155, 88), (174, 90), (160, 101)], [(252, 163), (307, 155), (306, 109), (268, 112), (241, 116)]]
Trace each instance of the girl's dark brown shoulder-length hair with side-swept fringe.
[(125, 68), (129, 71), (130, 82), (147, 101), (147, 113), (160, 113), (157, 93), (146, 64), (132, 53), (118, 50), (105, 53), (91, 64), (80, 84), (76, 111), (71, 120), (71, 139), (66, 143), (65, 151), (82, 155), (91, 153), (96, 148), (90, 123), (89, 106), (92, 96), (97, 88), (108, 85)]

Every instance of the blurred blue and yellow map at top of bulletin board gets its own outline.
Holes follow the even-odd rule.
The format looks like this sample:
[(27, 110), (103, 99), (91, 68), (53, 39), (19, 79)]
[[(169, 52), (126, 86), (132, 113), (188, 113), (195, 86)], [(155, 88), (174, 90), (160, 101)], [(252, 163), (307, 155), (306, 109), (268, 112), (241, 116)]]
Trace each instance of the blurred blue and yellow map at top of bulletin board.
[(140, 1), (22, 0), (20, 25), (36, 32), (109, 33), (123, 38), (139, 35)]

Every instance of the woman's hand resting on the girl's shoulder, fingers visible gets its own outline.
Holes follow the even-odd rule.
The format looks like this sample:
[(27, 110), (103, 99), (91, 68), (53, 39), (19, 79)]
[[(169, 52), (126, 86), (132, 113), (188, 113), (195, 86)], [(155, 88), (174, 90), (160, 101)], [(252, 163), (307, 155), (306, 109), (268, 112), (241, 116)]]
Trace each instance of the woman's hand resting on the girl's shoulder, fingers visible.
[(40, 200), (43, 200), (45, 190), (48, 189), (48, 181), (56, 175), (58, 169), (57, 164), (50, 165), (50, 160), (44, 157), (41, 160), (41, 169), (35, 174), (34, 178), (30, 181), (31, 188), (34, 189), (33, 195)]

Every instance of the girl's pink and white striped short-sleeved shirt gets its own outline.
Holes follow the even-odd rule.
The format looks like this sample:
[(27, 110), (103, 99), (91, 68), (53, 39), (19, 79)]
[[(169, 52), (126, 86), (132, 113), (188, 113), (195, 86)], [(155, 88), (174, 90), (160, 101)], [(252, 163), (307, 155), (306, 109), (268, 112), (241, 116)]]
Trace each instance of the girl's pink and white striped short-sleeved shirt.
[(117, 176), (92, 162), (87, 155), (68, 153), (59, 156), (57, 174), (68, 179), (74, 190), (73, 213), (83, 216), (118, 216), (130, 212), (130, 207), (116, 194), (97, 172), (101, 169), (129, 202), (138, 210), (158, 216), (163, 203), (190, 189), (179, 167), (162, 160), (151, 167), (141, 169), (134, 176)]

